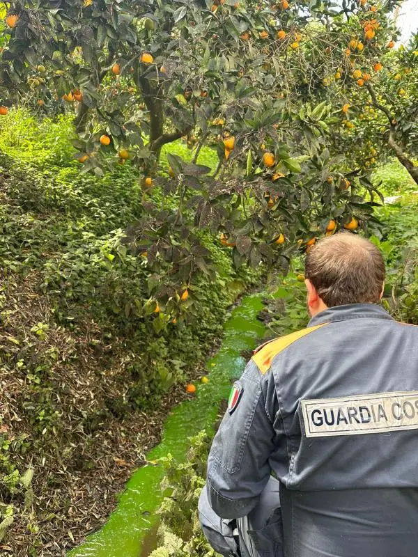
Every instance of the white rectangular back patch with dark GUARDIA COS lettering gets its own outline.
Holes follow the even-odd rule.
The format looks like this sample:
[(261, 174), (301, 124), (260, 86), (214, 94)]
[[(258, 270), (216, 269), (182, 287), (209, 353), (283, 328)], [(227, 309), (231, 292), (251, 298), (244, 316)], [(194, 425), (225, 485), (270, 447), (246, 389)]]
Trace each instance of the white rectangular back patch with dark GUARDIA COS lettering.
[(306, 437), (418, 429), (418, 391), (302, 400)]

